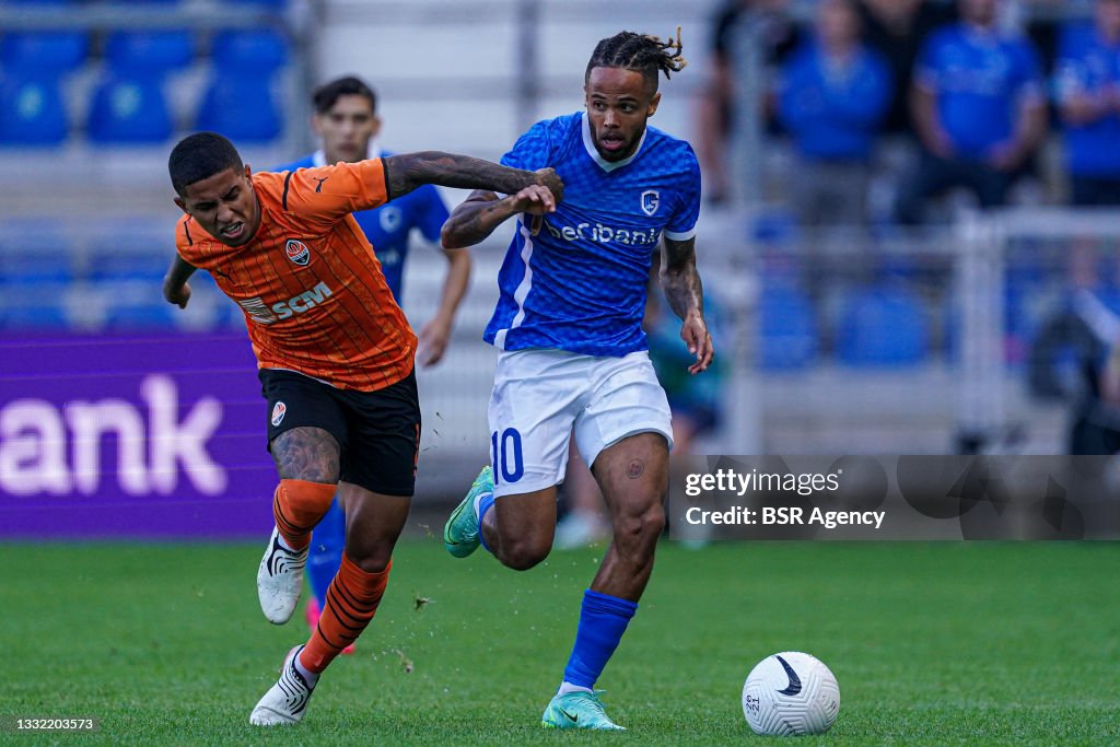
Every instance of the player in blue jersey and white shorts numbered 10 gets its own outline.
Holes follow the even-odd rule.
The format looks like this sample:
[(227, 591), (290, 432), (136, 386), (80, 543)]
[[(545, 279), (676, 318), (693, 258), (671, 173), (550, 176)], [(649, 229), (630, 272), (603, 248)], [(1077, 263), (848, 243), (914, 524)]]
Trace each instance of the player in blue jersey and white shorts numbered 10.
[(676, 40), (624, 31), (601, 40), (585, 74), (587, 111), (538, 122), (502, 162), (552, 167), (547, 189), (475, 192), (444, 225), (445, 246), (476, 244), (516, 218), (485, 339), (501, 352), (489, 403), (491, 461), (444, 530), (447, 550), (479, 543), (525, 570), (552, 548), (569, 436), (606, 498), (613, 538), (591, 587), (547, 728), (620, 729), (594, 690), (637, 610), (664, 527), (672, 443), (669, 403), (642, 332), (646, 279), (683, 320), (693, 374), (712, 361), (696, 267), (700, 168), (692, 148), (646, 127), (660, 73), (681, 69)]

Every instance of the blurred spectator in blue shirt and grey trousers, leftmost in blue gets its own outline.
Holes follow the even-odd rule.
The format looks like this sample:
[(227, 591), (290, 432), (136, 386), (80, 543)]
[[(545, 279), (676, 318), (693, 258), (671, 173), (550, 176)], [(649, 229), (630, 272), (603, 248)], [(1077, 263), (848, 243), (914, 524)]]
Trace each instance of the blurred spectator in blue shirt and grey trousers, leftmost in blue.
[(890, 102), (890, 72), (860, 44), (855, 0), (822, 0), (816, 37), (782, 69), (777, 112), (801, 164), (792, 198), (805, 225), (867, 220), (875, 136)]

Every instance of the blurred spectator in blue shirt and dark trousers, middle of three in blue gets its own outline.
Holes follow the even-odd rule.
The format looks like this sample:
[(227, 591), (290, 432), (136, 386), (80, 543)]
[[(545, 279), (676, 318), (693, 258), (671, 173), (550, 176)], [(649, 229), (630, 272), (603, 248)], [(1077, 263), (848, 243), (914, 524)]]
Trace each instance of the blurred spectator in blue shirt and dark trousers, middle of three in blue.
[(898, 196), (897, 217), (921, 223), (925, 200), (954, 187), (981, 207), (1004, 205), (1046, 133), (1037, 53), (1000, 30), (1000, 0), (960, 0), (961, 22), (933, 34), (915, 72), (912, 105), (924, 152)]

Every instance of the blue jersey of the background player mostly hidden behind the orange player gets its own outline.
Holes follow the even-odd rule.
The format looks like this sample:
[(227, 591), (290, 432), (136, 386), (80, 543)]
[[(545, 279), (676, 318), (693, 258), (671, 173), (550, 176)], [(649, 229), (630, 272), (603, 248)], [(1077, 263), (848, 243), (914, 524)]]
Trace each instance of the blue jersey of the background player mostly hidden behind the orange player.
[[(390, 155), (371, 150), (370, 158)], [(312, 166), (326, 166), (326, 157), (321, 150), (272, 170), (295, 171)], [(381, 207), (354, 213), (365, 237), (373, 244), (374, 254), (381, 262), (381, 271), (385, 274), (385, 282), (389, 283), (389, 289), (393, 291), (393, 298), (398, 304), (402, 302), (404, 260), (409, 254), (409, 236), (412, 230), (419, 228), (424, 239), (438, 245), (439, 232), (447, 216), (447, 206), (439, 196), (439, 190), (430, 184), (422, 185)]]

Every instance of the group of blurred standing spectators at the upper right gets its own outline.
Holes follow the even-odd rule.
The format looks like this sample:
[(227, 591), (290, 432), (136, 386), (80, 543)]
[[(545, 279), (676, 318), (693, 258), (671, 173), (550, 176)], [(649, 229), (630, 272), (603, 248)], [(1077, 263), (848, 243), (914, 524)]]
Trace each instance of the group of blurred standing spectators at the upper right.
[(788, 0), (727, 3), (698, 143), (710, 199), (731, 187), (737, 35), (749, 34), (771, 83), (765, 125), (796, 155), (786, 194), (804, 224), (868, 220), (884, 143), (911, 146), (890, 220), (925, 222), (930, 199), (955, 188), (980, 207), (1005, 205), (1018, 180), (1047, 176), (1039, 153), (1052, 132), (1064, 178), (1046, 192), (1120, 204), (1120, 0), (1081, 7), (1089, 13), (1025, 25), (1014, 0), (821, 0), (809, 22)]

